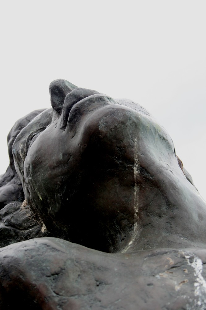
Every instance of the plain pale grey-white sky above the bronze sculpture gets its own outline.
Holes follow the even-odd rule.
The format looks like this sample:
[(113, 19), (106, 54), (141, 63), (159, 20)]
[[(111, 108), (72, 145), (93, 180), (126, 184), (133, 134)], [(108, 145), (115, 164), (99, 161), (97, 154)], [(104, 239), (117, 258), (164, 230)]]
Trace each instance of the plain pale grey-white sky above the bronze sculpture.
[(14, 122), (57, 78), (148, 109), (205, 191), (206, 1), (2, 1), (0, 174)]

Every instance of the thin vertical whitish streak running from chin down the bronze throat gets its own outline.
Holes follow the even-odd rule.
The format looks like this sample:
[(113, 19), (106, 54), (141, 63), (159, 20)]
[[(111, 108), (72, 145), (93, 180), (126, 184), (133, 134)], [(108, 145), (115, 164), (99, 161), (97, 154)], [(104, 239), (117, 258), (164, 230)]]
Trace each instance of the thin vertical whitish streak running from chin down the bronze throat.
[(135, 238), (137, 237), (138, 233), (138, 205), (139, 205), (139, 185), (138, 185), (138, 175), (139, 175), (139, 160), (138, 160), (138, 147), (137, 147), (137, 138), (134, 140), (134, 181), (135, 181), (135, 186), (134, 186), (134, 230), (131, 235), (131, 240), (128, 244), (128, 246), (123, 250), (123, 252), (126, 252), (129, 250), (135, 241)]

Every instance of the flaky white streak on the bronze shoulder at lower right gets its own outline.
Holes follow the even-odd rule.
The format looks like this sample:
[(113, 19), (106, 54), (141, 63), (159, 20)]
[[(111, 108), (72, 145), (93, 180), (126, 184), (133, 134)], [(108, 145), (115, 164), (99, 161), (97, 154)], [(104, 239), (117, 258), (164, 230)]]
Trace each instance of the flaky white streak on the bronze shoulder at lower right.
[(197, 309), (197, 310), (205, 310), (206, 308), (206, 281), (202, 276), (202, 261), (199, 257), (194, 257), (193, 262), (190, 263), (190, 256), (186, 255), (185, 258), (187, 259), (188, 265), (194, 268), (194, 276), (195, 282), (195, 298), (193, 300), (194, 306), (188, 306), (187, 310)]

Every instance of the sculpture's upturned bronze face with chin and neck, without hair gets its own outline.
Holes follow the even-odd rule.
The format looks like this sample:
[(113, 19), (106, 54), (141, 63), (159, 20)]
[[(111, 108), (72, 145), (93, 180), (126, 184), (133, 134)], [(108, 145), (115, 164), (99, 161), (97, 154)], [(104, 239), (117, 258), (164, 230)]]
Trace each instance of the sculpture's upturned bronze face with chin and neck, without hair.
[(65, 80), (50, 95), (53, 109), (19, 133), (13, 155), (51, 234), (108, 252), (205, 242), (205, 202), (144, 108)]

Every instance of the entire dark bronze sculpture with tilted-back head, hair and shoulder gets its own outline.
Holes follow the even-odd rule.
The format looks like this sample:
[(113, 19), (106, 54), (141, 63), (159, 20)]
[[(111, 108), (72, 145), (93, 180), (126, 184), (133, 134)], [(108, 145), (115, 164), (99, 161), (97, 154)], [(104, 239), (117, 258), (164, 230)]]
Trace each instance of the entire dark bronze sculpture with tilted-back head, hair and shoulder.
[(49, 91), (8, 136), (2, 309), (206, 308), (206, 204), (165, 129), (131, 100)]

